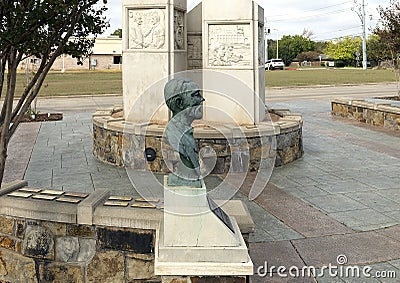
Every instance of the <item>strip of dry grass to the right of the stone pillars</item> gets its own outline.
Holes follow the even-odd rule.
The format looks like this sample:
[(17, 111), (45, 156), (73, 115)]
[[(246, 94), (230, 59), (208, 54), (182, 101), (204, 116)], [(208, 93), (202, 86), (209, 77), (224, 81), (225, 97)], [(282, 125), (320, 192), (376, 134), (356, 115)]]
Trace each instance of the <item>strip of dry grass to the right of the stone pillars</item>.
[(303, 69), (267, 71), (267, 87), (395, 82), (393, 70)]

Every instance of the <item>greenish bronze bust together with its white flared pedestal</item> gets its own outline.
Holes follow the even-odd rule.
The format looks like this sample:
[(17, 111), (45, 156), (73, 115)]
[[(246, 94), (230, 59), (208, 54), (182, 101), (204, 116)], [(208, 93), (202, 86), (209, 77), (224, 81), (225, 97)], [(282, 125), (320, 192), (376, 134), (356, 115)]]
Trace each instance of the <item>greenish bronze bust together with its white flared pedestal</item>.
[[(203, 117), (200, 87), (189, 79), (175, 78), (166, 84), (164, 96), (173, 113), (166, 138), (180, 160), (176, 171), (164, 179), (164, 221), (156, 247), (155, 272), (250, 275), (253, 264), (239, 227), (210, 198), (201, 177), (192, 127), (194, 120)], [(211, 266), (201, 267), (204, 263)]]

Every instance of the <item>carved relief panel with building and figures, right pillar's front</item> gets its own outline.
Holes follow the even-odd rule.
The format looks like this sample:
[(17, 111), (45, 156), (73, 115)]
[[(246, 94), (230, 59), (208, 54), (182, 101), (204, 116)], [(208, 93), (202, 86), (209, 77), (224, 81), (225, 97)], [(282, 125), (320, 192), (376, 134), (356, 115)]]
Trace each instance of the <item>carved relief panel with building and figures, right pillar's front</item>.
[(209, 66), (251, 66), (250, 24), (211, 24), (208, 34)]

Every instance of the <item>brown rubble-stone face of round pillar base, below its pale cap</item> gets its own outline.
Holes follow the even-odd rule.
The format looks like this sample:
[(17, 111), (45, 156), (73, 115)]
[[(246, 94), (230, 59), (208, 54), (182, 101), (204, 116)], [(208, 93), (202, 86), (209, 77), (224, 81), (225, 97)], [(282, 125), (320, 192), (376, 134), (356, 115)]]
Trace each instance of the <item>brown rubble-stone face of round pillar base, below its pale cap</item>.
[[(102, 126), (93, 124), (93, 154), (94, 156), (108, 164), (116, 166), (128, 165), (134, 169), (144, 169), (149, 166), (153, 172), (168, 173), (173, 168), (175, 153), (168, 146), (161, 149), (162, 137), (144, 137), (141, 135), (127, 135), (121, 131), (109, 130)], [(303, 137), (301, 127), (290, 128), (281, 131), (276, 137), (276, 160), (275, 166), (282, 166), (293, 162), (303, 156)], [(261, 139), (264, 139), (261, 142)], [(203, 154), (202, 161), (210, 168), (213, 174), (227, 173), (232, 164), (245, 164), (248, 168), (232, 168), (235, 172), (257, 171), (261, 166), (267, 166), (275, 152), (272, 151), (271, 144), (273, 137), (255, 137), (248, 139), (197, 139), (200, 154)], [(152, 148), (156, 152), (156, 158), (152, 162), (145, 160), (143, 149)], [(126, 150), (123, 152), (123, 150)], [(139, 149), (139, 150), (136, 150)], [(215, 164), (208, 165), (207, 150), (213, 150), (217, 156)], [(262, 156), (267, 152), (268, 156)], [(165, 158), (171, 164), (166, 164)], [(232, 158), (243, 162), (232, 162)], [(124, 164), (124, 160), (127, 164)]]

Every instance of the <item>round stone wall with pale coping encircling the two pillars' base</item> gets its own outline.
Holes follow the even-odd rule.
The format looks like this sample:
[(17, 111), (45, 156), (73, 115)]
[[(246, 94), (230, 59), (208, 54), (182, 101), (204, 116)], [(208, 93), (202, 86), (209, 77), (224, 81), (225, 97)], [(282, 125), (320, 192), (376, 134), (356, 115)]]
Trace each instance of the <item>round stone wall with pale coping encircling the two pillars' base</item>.
[[(168, 143), (163, 141), (165, 126), (133, 125), (123, 119), (112, 118), (113, 112), (115, 110), (107, 109), (93, 115), (94, 156), (116, 166), (126, 165), (134, 169), (145, 169), (148, 166), (153, 172), (170, 172), (177, 157), (172, 148), (166, 145)], [(275, 113), (281, 118), (273, 127), (261, 123), (239, 129), (195, 128), (194, 136), (203, 164), (211, 166), (209, 172), (223, 174), (230, 169), (233, 172), (257, 171), (263, 166), (274, 163), (275, 166), (282, 166), (302, 157), (301, 115), (292, 114), (286, 109), (276, 110)], [(235, 137), (235, 130), (241, 134)], [(227, 137), (232, 138), (228, 140)], [(276, 149), (271, 146), (275, 142)], [(147, 162), (144, 157), (147, 148), (155, 151), (153, 161)], [(214, 153), (216, 160), (210, 162), (208, 156)], [(244, 167), (231, 168), (237, 164)]]

